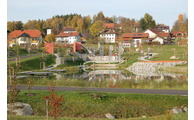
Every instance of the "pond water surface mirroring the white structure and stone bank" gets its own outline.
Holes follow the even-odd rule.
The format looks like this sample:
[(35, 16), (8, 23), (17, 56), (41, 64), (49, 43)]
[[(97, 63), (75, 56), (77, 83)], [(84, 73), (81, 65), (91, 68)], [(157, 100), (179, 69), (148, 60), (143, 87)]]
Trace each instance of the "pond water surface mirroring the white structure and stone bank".
[(54, 73), (54, 75), (56, 76), (57, 80), (85, 79), (88, 81), (92, 81), (110, 79), (115, 82), (121, 80), (133, 80), (134, 82), (138, 82), (139, 80), (155, 80), (157, 82), (161, 82), (163, 80), (188, 80), (187, 74), (160, 73), (153, 75), (136, 75), (131, 72), (123, 72), (121, 70), (94, 70), (72, 74)]

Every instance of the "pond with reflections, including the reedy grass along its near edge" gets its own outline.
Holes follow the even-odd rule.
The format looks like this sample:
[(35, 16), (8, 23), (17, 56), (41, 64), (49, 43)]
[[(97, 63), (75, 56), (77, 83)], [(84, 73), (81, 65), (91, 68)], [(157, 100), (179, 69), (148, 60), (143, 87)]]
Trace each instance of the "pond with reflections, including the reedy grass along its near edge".
[(134, 74), (127, 70), (92, 70), (77, 73), (53, 73), (51, 76), (27, 76), (18, 78), (20, 85), (146, 88), (146, 89), (188, 89), (188, 75), (176, 73)]

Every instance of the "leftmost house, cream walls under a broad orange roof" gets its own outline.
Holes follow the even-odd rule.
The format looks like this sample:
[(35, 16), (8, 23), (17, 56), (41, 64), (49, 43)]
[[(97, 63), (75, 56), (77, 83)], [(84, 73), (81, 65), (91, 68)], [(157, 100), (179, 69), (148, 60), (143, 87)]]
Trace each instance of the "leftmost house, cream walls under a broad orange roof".
[(38, 45), (42, 43), (42, 35), (39, 30), (14, 30), (8, 35), (9, 46), (18, 45)]

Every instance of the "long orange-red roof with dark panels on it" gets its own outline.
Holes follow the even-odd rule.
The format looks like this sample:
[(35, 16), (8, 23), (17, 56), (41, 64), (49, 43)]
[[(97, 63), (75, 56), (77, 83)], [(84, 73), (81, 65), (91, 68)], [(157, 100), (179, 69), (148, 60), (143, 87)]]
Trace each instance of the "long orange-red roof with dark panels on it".
[(148, 33), (123, 33), (123, 38), (145, 38), (149, 37)]

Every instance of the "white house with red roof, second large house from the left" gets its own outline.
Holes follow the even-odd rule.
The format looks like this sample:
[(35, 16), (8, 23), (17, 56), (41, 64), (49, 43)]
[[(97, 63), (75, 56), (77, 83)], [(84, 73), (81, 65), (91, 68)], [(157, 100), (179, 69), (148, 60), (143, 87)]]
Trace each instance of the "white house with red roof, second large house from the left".
[(64, 27), (58, 35), (55, 35), (56, 42), (73, 44), (74, 42), (81, 42), (81, 33), (76, 32), (75, 28)]

